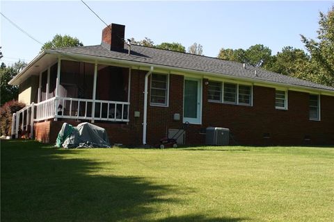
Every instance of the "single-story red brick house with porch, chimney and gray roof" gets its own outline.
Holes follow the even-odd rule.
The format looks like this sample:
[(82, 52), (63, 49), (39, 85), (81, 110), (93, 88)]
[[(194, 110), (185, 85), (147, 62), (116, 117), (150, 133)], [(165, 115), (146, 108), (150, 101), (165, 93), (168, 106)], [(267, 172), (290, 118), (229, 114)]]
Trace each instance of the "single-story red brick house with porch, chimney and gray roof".
[(333, 87), (124, 37), (111, 24), (99, 45), (42, 51), (10, 80), (27, 104), (12, 134), (54, 143), (64, 122), (90, 121), (113, 143), (157, 144), (189, 121), (185, 144), (205, 144), (209, 126), (237, 144), (334, 144)]

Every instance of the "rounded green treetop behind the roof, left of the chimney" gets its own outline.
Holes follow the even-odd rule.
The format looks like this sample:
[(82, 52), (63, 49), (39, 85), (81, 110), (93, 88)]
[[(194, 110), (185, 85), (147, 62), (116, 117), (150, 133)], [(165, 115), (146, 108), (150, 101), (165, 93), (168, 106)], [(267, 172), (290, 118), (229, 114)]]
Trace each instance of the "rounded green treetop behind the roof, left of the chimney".
[(54, 36), (54, 39), (49, 42), (45, 42), (40, 50), (43, 51), (45, 49), (56, 49), (72, 46), (84, 46), (84, 44), (82, 44), (82, 42), (80, 42), (77, 37), (71, 37), (70, 35), (62, 36), (56, 34)]

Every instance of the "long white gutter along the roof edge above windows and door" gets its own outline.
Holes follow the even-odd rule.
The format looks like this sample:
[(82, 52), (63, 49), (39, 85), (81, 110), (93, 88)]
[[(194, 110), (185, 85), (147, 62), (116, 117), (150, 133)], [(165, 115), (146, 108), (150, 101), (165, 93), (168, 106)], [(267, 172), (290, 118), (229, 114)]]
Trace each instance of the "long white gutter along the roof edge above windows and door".
[[(48, 54), (59, 55), (59, 53), (54, 51), (54, 50), (45, 50), (45, 52), (48, 53)], [(217, 76), (217, 77), (220, 77), (220, 78), (233, 78), (234, 80), (246, 80), (246, 81), (250, 81), (252, 83), (263, 83), (265, 85), (273, 85), (273, 86), (280, 86), (280, 87), (292, 87), (294, 89), (305, 89), (305, 90), (311, 90), (313, 92), (323, 92), (323, 94), (326, 94), (328, 96), (334, 96), (334, 91), (331, 90), (331, 89), (320, 89), (320, 88), (317, 88), (317, 87), (292, 85), (292, 84), (288, 84), (288, 83), (268, 82), (267, 80), (261, 80), (261, 79), (258, 79), (258, 78), (231, 76), (231, 75), (228, 75), (228, 74), (215, 74), (215, 73), (209, 73), (209, 72), (206, 72), (206, 71), (198, 71), (198, 70), (195, 70), (195, 69), (170, 67), (170, 66), (166, 66), (166, 65), (157, 65), (157, 64), (152, 64), (152, 63), (148, 63), (148, 62), (137, 62), (137, 61), (134, 61), (134, 60), (104, 58), (104, 57), (101, 57), (101, 56), (90, 56), (90, 55), (82, 55), (82, 54), (77, 54), (77, 53), (63, 53), (62, 52), (62, 54), (63, 54), (63, 56), (72, 56), (72, 58), (77, 58), (77, 59), (86, 59), (86, 60), (93, 60), (93, 61), (99, 60), (99, 61), (105, 61), (106, 63), (107, 62), (117, 62), (117, 63), (128, 65), (128, 66), (138, 65), (139, 67), (150, 67), (150, 66), (154, 65), (155, 68), (168, 69), (170, 71), (180, 71), (180, 72), (184, 72), (184, 73), (200, 74), (200, 75), (203, 75), (203, 76)]]

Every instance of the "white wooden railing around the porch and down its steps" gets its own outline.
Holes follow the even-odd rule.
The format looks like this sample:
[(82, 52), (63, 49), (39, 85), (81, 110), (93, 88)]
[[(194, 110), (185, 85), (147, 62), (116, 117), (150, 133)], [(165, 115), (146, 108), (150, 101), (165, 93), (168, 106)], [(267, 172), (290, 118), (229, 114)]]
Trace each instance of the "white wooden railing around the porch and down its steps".
[[(27, 130), (33, 121), (46, 119), (76, 119), (90, 121), (129, 122), (128, 102), (53, 97), (40, 103), (31, 103), (13, 114), (12, 135), (18, 137), (19, 127)], [(20, 126), (19, 126), (20, 125)]]

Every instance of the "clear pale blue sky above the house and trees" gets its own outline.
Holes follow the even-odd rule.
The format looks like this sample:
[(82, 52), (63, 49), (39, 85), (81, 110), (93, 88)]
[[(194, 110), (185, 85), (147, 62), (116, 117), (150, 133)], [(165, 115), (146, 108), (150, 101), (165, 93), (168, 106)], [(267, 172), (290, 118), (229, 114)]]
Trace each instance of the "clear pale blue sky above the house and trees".
[[(85, 0), (84, 0), (85, 1)], [(205, 56), (221, 48), (264, 44), (276, 54), (284, 46), (305, 49), (300, 34), (317, 37), (319, 12), (334, 1), (85, 1), (106, 24), (125, 25), (125, 38), (154, 44), (197, 42)], [(101, 43), (104, 23), (81, 1), (0, 1), (0, 11), (44, 44), (54, 35), (77, 37), (85, 46)], [(13, 65), (38, 56), (41, 44), (1, 18), (1, 62)]]

